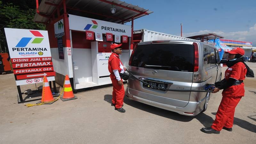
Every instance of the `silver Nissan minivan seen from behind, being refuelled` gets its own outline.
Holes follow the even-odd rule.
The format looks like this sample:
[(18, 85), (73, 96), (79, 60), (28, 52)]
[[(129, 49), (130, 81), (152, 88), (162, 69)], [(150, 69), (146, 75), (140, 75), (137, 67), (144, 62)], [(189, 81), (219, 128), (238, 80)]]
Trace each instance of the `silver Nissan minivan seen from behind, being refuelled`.
[[(207, 84), (221, 79), (219, 53), (200, 41), (163, 40), (139, 43), (133, 49), (126, 97), (181, 115), (206, 110)], [(149, 84), (149, 85), (148, 85)]]

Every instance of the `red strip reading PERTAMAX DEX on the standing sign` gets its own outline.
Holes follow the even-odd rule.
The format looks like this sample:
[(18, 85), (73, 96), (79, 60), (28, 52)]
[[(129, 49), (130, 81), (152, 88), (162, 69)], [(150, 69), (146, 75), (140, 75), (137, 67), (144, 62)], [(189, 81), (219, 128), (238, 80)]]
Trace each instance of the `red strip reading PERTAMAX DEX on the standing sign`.
[(44, 72), (44, 71), (53, 71), (53, 67), (14, 69), (13, 73), (14, 74), (26, 74), (26, 73), (35, 73), (35, 72)]

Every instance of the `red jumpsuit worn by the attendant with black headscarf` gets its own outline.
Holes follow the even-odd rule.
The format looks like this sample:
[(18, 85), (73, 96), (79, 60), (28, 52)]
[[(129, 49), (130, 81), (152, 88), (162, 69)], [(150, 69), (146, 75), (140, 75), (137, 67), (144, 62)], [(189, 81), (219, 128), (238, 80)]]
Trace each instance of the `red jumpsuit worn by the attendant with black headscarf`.
[[(247, 69), (243, 62), (238, 62), (225, 71), (225, 79), (234, 78), (244, 80)], [(220, 131), (223, 126), (232, 128), (234, 121), (235, 108), (244, 96), (244, 83), (232, 85), (222, 92), (222, 100), (216, 113), (216, 118), (212, 123), (212, 128)]]

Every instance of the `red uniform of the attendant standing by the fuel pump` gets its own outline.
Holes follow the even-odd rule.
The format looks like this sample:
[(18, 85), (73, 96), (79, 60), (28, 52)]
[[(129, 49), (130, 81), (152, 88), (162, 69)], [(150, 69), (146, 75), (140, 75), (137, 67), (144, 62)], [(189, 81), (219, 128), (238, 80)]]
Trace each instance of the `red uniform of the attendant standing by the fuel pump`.
[[(112, 103), (116, 105), (116, 108), (121, 108), (124, 102), (124, 85), (118, 85), (113, 70), (118, 70), (119, 73), (124, 71), (123, 63), (116, 53), (112, 53), (108, 59), (108, 71), (110, 72), (110, 78), (113, 84)], [(123, 81), (122, 78), (121, 81)]]

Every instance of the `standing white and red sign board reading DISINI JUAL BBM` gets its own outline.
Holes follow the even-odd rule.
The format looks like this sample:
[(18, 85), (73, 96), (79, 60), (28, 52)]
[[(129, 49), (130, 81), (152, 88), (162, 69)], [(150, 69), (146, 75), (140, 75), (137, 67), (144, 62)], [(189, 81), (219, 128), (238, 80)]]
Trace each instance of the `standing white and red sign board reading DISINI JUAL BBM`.
[(17, 85), (43, 82), (45, 75), (49, 81), (55, 80), (47, 31), (17, 28), (4, 31)]

